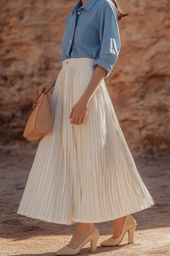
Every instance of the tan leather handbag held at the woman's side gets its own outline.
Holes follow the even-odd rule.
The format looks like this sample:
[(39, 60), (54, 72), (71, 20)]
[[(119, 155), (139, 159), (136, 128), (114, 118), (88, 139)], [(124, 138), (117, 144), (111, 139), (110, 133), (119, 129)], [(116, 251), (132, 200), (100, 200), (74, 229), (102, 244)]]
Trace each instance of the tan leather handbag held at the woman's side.
[(23, 137), (28, 141), (37, 141), (51, 130), (48, 93), (44, 92), (37, 96), (30, 113)]

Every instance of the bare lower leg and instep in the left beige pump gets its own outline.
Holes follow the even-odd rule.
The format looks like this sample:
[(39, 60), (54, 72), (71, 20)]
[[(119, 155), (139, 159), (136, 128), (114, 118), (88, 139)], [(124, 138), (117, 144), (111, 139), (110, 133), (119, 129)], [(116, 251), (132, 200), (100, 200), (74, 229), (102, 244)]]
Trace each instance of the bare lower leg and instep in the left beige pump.
[(77, 248), (83, 240), (91, 234), (94, 228), (94, 223), (79, 222), (70, 242), (67, 245), (72, 249)]

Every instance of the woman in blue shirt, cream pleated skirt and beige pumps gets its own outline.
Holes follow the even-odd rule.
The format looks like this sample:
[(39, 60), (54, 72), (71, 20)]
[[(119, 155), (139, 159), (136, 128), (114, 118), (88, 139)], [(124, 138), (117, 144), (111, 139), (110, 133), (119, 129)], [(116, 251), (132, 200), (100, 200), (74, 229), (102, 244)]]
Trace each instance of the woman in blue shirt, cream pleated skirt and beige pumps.
[(52, 129), (39, 141), (18, 214), (47, 222), (78, 223), (70, 242), (57, 255), (75, 255), (90, 241), (96, 252), (94, 223), (114, 220), (119, 244), (126, 231), (133, 243), (131, 213), (154, 201), (143, 184), (104, 78), (113, 73), (120, 50), (118, 0), (79, 0), (65, 22), (62, 69), (39, 87), (54, 86), (50, 99)]

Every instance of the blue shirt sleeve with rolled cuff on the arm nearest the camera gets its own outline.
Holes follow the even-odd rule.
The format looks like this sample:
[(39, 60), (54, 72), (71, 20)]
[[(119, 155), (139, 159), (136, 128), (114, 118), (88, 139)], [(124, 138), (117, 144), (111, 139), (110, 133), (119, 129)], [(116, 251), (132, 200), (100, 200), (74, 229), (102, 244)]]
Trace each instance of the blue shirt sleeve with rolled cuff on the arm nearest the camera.
[(101, 8), (99, 16), (99, 37), (100, 53), (99, 58), (93, 63), (93, 66), (99, 65), (106, 69), (104, 78), (113, 73), (113, 66), (116, 63), (120, 51), (120, 36), (117, 24), (117, 9), (111, 2), (105, 2)]

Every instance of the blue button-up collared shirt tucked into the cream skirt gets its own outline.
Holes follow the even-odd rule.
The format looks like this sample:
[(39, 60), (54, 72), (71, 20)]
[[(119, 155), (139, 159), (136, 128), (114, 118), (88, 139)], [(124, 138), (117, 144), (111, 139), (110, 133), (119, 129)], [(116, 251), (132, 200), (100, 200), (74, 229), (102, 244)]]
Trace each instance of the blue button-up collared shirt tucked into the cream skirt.
[(106, 69), (105, 78), (114, 72), (120, 50), (117, 9), (111, 0), (79, 0), (65, 21), (61, 61), (89, 57), (92, 64)]

